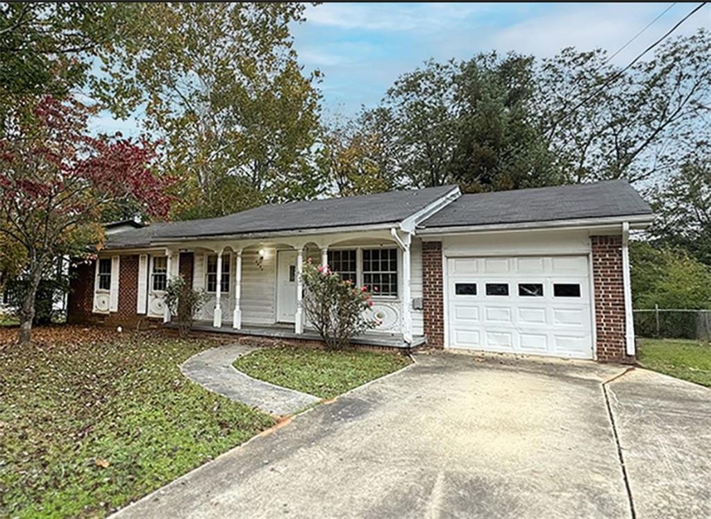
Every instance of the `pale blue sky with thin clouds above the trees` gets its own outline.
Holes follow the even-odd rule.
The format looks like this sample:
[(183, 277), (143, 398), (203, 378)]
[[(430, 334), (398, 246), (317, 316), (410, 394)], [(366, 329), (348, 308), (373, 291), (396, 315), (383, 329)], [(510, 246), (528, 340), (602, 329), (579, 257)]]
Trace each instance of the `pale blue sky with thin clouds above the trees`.
[[(292, 26), (294, 48), (306, 71), (324, 75), (319, 85), (324, 116), (349, 117), (373, 107), (397, 77), (425, 60), (457, 60), (489, 50), (550, 57), (565, 47), (624, 46), (665, 9), (613, 63), (626, 65), (688, 14), (695, 4), (321, 4), (306, 8), (306, 21)], [(674, 35), (711, 28), (711, 4)], [(135, 119), (102, 114), (95, 132), (139, 134)]]

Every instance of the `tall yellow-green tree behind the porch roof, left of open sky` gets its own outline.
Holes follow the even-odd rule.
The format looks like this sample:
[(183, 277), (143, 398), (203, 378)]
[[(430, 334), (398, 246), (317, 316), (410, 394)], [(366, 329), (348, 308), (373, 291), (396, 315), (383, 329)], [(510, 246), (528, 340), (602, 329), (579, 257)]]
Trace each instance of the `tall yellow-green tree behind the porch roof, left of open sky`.
[(101, 100), (144, 106), (183, 179), (176, 216), (216, 216), (318, 195), (319, 74), (296, 63), (295, 3), (141, 4), (132, 38), (106, 60)]

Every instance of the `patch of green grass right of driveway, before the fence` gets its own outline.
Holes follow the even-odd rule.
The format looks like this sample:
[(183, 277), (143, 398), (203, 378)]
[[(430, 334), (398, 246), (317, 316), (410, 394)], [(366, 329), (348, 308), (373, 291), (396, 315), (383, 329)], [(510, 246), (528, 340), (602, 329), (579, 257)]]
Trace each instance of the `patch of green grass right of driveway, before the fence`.
[(645, 368), (711, 387), (711, 343), (641, 339), (638, 359)]

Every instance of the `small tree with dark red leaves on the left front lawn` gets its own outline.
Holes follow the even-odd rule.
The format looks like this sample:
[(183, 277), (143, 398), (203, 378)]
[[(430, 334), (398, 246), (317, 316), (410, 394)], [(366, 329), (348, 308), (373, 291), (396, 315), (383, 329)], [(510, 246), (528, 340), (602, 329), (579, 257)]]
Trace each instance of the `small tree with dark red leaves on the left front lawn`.
[[(149, 169), (154, 145), (89, 137), (91, 110), (51, 96), (18, 99), (10, 131), (0, 139), (0, 235), (21, 247), (26, 295), (18, 341), (31, 338), (35, 298), (43, 272), (56, 257), (100, 247), (100, 214), (129, 201), (164, 216), (168, 178)], [(98, 244), (98, 245), (97, 245)]]

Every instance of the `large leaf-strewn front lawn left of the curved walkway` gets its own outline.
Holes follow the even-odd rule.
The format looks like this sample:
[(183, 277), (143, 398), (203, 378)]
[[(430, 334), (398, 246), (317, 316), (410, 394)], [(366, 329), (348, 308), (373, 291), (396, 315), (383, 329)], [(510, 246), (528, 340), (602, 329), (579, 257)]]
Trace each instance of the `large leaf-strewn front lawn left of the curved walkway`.
[(101, 517), (274, 424), (178, 365), (209, 341), (0, 329), (0, 517)]

